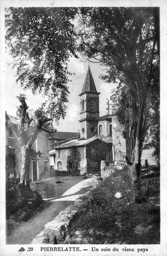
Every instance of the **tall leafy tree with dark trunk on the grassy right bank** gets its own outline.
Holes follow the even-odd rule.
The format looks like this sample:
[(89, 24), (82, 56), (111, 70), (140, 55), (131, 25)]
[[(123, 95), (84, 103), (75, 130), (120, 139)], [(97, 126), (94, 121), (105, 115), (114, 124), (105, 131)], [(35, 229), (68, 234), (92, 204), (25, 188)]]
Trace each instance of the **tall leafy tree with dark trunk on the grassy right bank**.
[[(107, 82), (126, 85), (124, 125), (127, 163), (135, 195), (140, 194), (140, 159), (146, 127), (149, 96), (158, 91), (158, 8), (80, 9), (78, 39), (88, 59), (106, 67)], [(156, 79), (155, 79), (156, 77)]]

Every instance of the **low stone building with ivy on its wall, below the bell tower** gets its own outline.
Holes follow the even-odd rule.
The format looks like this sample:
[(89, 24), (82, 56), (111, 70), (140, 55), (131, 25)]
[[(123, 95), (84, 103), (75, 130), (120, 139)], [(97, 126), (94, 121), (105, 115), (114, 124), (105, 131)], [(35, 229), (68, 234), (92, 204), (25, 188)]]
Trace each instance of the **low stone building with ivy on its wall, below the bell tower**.
[(94, 136), (87, 140), (72, 140), (55, 147), (54, 169), (70, 175), (96, 172), (106, 160), (110, 143)]

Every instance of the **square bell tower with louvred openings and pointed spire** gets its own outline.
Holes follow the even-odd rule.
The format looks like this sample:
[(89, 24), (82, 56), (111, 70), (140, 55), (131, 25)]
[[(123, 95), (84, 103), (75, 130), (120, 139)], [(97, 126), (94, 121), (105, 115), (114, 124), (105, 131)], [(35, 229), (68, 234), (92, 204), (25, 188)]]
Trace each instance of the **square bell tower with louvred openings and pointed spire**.
[(89, 139), (98, 134), (99, 94), (88, 67), (85, 83), (80, 96), (80, 136)]

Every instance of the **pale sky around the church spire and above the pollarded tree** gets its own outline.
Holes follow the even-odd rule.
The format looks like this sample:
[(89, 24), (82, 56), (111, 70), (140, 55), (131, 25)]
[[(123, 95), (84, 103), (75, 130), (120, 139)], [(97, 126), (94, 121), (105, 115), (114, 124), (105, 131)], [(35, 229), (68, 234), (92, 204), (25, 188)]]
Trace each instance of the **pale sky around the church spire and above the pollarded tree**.
[[(33, 95), (30, 90), (23, 91), (19, 83), (16, 83), (16, 70), (12, 68), (12, 57), (6, 54), (6, 86), (5, 86), (5, 108), (9, 115), (16, 116), (17, 107), (20, 105), (16, 96), (20, 93), (26, 94), (27, 105), (29, 109), (36, 109), (41, 106), (44, 102), (44, 98), (41, 94)], [(79, 111), (80, 111), (80, 97), (79, 94), (84, 86), (86, 74), (88, 71), (88, 65), (90, 65), (90, 70), (94, 78), (95, 86), (99, 94), (99, 111), (100, 116), (106, 115), (106, 98), (110, 99), (111, 90), (116, 86), (115, 84), (105, 83), (99, 75), (102, 74), (104, 67), (99, 65), (99, 63), (88, 64), (87, 62), (81, 61), (72, 57), (70, 59), (68, 70), (72, 75), (71, 82), (68, 83), (69, 86), (69, 102), (66, 103), (66, 115), (64, 119), (60, 119), (59, 125), (55, 128), (59, 132), (78, 132), (80, 129), (79, 121)]]

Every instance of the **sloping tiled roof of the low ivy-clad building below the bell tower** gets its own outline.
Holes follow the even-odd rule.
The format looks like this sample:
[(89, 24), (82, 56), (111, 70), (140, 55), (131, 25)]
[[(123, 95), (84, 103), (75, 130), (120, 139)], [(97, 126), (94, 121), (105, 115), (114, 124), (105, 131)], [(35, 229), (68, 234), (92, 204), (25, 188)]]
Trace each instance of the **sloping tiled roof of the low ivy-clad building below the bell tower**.
[(83, 147), (93, 142), (94, 140), (100, 140), (100, 139), (98, 139), (97, 136), (95, 135), (94, 137), (91, 137), (90, 139), (87, 139), (87, 140), (70, 140), (66, 143), (63, 143), (60, 146), (55, 147), (55, 149)]

